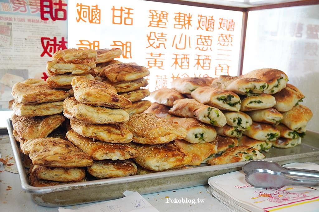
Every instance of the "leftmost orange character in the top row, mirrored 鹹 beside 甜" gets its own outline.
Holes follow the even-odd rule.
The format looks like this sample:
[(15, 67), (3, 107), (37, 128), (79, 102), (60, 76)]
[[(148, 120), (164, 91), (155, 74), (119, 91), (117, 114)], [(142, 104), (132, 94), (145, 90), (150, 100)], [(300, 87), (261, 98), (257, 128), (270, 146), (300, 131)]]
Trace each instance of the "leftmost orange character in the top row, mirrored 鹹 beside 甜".
[(98, 8), (98, 5), (92, 5), (91, 10), (90, 10), (90, 6), (82, 5), (82, 3), (81, 4), (77, 3), (77, 7), (80, 7), (79, 9), (77, 9), (77, 12), (78, 12), (77, 22), (82, 20), (86, 23), (86, 20), (87, 20), (90, 24), (101, 23), (101, 10)]

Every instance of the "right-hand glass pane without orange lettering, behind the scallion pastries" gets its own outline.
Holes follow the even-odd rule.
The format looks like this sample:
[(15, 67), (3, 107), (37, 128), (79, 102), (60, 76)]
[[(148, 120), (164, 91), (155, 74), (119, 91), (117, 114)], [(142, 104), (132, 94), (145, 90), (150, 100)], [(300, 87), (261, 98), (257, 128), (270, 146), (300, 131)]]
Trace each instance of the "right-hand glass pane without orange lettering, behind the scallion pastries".
[(319, 5), (249, 12), (243, 74), (259, 68), (284, 71), (312, 110), (307, 129), (319, 131)]

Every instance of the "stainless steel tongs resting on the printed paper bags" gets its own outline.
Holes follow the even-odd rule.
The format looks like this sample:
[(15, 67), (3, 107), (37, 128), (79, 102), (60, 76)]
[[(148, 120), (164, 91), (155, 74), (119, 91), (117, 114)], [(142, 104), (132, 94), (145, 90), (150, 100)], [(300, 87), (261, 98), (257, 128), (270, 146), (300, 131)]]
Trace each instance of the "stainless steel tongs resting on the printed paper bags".
[[(268, 161), (250, 161), (242, 167), (242, 170), (246, 174), (246, 182), (257, 188), (319, 187), (319, 171), (317, 170), (286, 168)], [(297, 178), (289, 176), (297, 176)]]

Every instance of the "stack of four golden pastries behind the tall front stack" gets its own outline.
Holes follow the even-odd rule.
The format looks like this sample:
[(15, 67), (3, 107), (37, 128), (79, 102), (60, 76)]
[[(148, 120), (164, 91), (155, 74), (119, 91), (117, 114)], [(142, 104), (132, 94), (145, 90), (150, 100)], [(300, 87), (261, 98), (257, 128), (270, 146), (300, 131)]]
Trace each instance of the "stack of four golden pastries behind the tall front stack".
[(150, 95), (149, 90), (143, 88), (148, 85), (148, 81), (144, 77), (150, 74), (146, 67), (136, 63), (113, 62), (100, 70), (100, 80), (115, 87), (119, 95), (132, 102), (132, 106), (126, 109), (130, 116), (142, 113), (151, 105), (150, 101), (143, 100)]

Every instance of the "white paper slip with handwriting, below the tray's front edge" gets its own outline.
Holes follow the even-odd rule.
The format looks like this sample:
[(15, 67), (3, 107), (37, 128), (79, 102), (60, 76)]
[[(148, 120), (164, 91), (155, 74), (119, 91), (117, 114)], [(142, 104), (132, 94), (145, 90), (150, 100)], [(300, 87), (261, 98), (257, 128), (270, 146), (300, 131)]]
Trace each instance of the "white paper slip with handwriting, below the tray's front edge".
[(112, 211), (112, 212), (159, 212), (138, 192), (125, 191), (123, 198), (104, 201), (78, 209), (59, 208), (59, 212), (87, 212), (87, 211)]

